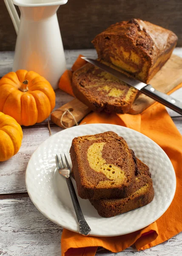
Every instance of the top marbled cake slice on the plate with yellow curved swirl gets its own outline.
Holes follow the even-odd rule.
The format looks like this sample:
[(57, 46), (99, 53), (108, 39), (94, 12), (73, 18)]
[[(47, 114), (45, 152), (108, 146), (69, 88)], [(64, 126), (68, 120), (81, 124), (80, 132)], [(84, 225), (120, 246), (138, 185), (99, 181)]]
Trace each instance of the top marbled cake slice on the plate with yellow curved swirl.
[(116, 133), (76, 137), (70, 156), (81, 198), (123, 198), (134, 191), (136, 157)]

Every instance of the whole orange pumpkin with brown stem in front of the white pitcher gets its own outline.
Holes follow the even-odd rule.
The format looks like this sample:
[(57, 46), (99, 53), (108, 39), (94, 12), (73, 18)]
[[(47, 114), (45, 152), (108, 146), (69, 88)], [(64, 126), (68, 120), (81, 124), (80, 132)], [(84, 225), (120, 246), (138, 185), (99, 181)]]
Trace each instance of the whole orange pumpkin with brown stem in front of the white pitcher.
[(0, 79), (0, 111), (20, 125), (43, 122), (54, 107), (51, 84), (34, 71), (17, 70)]

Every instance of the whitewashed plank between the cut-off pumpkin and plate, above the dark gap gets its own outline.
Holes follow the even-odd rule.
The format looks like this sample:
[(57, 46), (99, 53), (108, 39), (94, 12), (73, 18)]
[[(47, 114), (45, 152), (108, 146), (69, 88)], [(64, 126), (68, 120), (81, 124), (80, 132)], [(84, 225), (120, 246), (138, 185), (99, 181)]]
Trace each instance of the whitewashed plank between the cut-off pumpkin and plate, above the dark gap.
[[(51, 128), (52, 134), (61, 131), (60, 127)], [(28, 160), (35, 149), (49, 137), (48, 128), (23, 129), (20, 151), (11, 159), (0, 162), (0, 194), (26, 192), (25, 171)]]

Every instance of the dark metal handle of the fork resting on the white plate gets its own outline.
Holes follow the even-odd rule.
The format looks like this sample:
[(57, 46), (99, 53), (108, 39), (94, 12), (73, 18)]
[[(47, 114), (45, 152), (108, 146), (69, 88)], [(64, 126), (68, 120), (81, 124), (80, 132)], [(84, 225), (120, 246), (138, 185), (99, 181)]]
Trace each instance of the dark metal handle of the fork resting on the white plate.
[(69, 189), (69, 192), (70, 192), (70, 195), (71, 195), (71, 200), (72, 200), (72, 203), (73, 203), (73, 206), (74, 206), (74, 210), (75, 210), (75, 213), (77, 215), (79, 233), (83, 236), (88, 236), (91, 233), (91, 229), (88, 226), (88, 224), (85, 221), (85, 218), (83, 216), (82, 209), (80, 208), (80, 204), (79, 204), (76, 192), (74, 190), (74, 186), (73, 186), (73, 183), (71, 181), (71, 178), (70, 177), (68, 177), (68, 178), (65, 177), (65, 179), (66, 179), (66, 183), (68, 185), (68, 189)]

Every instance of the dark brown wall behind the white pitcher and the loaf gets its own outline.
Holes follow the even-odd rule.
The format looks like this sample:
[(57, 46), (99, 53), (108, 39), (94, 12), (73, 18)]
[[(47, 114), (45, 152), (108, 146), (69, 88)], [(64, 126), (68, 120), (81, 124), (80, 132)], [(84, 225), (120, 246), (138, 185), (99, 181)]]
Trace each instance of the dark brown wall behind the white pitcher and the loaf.
[[(91, 40), (109, 25), (140, 18), (170, 29), (182, 47), (182, 0), (68, 0), (57, 12), (64, 49), (93, 48)], [(0, 0), (0, 51), (14, 50), (16, 33)]]

